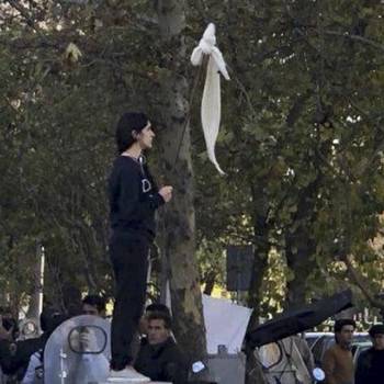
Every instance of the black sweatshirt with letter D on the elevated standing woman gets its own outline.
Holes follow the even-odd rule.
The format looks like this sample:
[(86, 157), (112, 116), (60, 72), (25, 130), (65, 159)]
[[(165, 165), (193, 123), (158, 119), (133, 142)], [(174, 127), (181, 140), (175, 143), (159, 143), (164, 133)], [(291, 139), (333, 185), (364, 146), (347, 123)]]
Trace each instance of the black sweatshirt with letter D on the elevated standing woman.
[(118, 156), (109, 179), (111, 226), (155, 237), (155, 211), (165, 203), (147, 167), (128, 156)]

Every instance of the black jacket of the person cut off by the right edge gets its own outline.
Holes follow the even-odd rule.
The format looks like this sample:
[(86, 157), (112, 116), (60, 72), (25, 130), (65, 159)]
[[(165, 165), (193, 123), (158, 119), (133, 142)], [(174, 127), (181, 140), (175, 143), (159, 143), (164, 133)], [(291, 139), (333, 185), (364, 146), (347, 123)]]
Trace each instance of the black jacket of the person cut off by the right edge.
[(374, 348), (362, 352), (358, 359), (354, 384), (384, 383), (384, 350)]

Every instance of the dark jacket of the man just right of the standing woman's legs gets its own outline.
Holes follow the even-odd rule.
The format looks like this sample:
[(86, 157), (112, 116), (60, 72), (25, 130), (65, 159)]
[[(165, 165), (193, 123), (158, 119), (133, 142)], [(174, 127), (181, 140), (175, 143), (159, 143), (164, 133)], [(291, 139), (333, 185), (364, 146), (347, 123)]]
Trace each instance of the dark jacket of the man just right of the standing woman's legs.
[(173, 384), (185, 384), (188, 381), (187, 360), (171, 337), (161, 345), (150, 346), (146, 343), (142, 346), (135, 369), (153, 381)]

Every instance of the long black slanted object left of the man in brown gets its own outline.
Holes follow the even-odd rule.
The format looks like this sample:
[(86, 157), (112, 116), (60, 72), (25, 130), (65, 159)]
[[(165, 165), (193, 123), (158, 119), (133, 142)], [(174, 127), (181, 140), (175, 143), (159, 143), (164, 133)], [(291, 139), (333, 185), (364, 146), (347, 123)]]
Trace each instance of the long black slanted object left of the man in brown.
[(346, 290), (295, 310), (287, 310), (247, 334), (250, 348), (261, 347), (310, 329), (328, 317), (352, 306), (352, 292)]

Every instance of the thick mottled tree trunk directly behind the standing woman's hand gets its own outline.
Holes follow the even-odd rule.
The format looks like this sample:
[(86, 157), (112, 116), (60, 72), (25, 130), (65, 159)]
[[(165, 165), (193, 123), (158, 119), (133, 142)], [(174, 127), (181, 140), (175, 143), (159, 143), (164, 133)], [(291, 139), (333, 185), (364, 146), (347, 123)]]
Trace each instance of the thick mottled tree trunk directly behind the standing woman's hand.
[(168, 259), (174, 334), (191, 360), (206, 352), (199, 270), (195, 259), (194, 188), (189, 126), (189, 86), (183, 30), (185, 1), (159, 0), (163, 77), (161, 78), (160, 153), (163, 177), (173, 185), (173, 199), (163, 210), (163, 250)]

